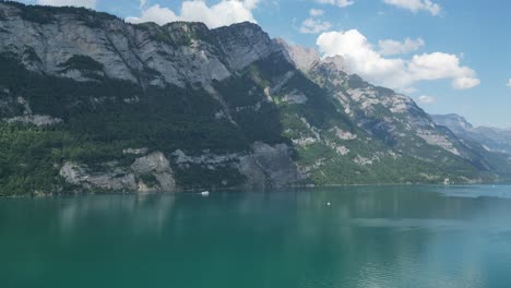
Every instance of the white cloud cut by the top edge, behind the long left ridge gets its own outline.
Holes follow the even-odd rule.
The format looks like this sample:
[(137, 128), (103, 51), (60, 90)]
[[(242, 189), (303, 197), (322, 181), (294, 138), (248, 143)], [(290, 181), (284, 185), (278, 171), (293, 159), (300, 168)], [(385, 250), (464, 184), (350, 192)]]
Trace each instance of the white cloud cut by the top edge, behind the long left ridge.
[(144, 8), (141, 2), (141, 15), (126, 20), (131, 23), (155, 22), (159, 25), (174, 21), (203, 22), (210, 28), (216, 28), (245, 21), (257, 23), (252, 10), (258, 2), (259, 0), (222, 0), (209, 7), (204, 1), (189, 0), (181, 3), (180, 14), (159, 4)]

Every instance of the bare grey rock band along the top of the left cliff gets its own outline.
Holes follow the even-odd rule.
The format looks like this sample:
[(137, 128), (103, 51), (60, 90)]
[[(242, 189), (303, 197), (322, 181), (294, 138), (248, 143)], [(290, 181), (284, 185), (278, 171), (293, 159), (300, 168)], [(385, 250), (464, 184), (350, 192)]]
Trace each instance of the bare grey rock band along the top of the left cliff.
[(0, 52), (17, 55), (32, 71), (75, 81), (92, 79), (79, 69), (64, 69), (73, 56), (100, 63), (97, 75), (183, 87), (222, 81), (276, 51), (270, 37), (250, 23), (210, 31), (201, 23), (132, 25), (110, 17), (91, 25), (60, 12), (41, 24), (24, 19), (15, 5), (0, 3), (0, 11), (5, 15), (0, 21)]

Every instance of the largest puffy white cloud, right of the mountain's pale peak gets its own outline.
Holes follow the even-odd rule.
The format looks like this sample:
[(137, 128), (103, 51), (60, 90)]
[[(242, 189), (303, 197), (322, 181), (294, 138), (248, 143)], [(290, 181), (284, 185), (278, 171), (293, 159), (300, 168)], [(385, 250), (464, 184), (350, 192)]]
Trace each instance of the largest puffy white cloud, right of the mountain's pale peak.
[(357, 29), (321, 34), (317, 45), (324, 57), (342, 56), (349, 73), (378, 85), (406, 89), (420, 81), (451, 80), (456, 89), (479, 85), (476, 72), (460, 64), (455, 55), (433, 52), (412, 59), (385, 58)]

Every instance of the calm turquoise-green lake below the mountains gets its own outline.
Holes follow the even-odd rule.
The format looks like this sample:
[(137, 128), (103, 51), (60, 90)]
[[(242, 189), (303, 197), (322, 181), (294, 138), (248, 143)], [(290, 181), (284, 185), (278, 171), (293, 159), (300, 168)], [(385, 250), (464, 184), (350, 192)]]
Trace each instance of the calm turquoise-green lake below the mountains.
[(511, 187), (0, 199), (0, 287), (509, 288)]

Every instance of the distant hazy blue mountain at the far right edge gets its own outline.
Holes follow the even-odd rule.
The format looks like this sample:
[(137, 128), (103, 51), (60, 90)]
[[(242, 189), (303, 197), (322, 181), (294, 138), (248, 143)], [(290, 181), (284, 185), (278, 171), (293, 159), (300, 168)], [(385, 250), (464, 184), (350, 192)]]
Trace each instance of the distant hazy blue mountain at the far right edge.
[(511, 155), (511, 130), (474, 127), (459, 115), (432, 115), (431, 118), (439, 125), (452, 130), (460, 139), (473, 141), (484, 145), (490, 152), (506, 153)]

